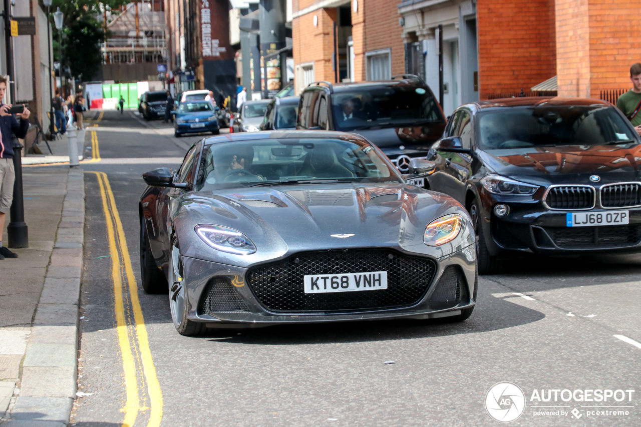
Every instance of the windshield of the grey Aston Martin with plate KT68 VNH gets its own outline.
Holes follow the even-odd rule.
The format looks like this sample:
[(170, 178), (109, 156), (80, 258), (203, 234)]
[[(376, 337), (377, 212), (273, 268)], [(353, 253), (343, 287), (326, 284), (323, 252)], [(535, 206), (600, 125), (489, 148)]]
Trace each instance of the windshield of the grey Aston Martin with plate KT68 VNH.
[(204, 147), (196, 190), (327, 182), (402, 182), (374, 147), (342, 138), (269, 138)]

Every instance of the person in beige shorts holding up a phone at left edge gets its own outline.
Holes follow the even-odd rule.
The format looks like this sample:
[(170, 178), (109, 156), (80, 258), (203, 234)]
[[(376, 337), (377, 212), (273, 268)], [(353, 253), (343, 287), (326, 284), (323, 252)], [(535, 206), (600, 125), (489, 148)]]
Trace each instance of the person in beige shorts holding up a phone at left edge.
[[(4, 92), (6, 92), (6, 79), (0, 76), (0, 99), (4, 98)], [(4, 218), (13, 202), (13, 181), (15, 181), (11, 134), (13, 133), (17, 138), (27, 136), (31, 113), (24, 107), (22, 113), (16, 114), (20, 117), (18, 122), (13, 114), (8, 113), (11, 107), (11, 104), (0, 104), (0, 260), (18, 258), (17, 253), (13, 253), (2, 244)]]

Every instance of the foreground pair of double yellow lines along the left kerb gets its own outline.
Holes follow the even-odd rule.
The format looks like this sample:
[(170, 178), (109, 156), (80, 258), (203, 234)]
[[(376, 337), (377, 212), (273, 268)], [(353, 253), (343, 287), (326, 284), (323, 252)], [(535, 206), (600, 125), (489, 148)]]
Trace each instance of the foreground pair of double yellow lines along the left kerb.
[[(160, 426), (163, 414), (162, 390), (156, 376), (151, 349), (149, 349), (147, 328), (138, 300), (138, 285), (131, 267), (124, 229), (107, 174), (104, 172), (86, 173), (96, 174), (98, 180), (100, 196), (103, 201), (109, 251), (112, 255), (114, 309), (127, 394), (126, 403), (122, 408), (122, 412), (125, 414), (122, 427), (133, 426), (138, 412), (149, 409), (140, 403), (140, 394), (145, 394), (144, 382), (147, 383), (147, 394), (151, 403), (147, 427), (157, 427)], [(126, 283), (128, 290), (124, 288), (123, 282)], [(126, 299), (131, 303), (131, 307), (125, 307)], [(131, 319), (128, 319), (126, 315), (129, 312), (133, 312), (134, 324), (128, 324), (128, 321), (131, 323)], [(140, 373), (138, 365), (142, 365), (142, 373)], [(138, 378), (141, 379), (140, 384)]]

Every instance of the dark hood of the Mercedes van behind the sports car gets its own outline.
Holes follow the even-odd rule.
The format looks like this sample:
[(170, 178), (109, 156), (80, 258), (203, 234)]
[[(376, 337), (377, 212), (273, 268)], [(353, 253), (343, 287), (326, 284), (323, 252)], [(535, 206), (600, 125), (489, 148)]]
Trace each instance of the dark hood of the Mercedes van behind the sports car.
[(352, 131), (370, 140), (386, 155), (403, 154), (400, 146), (412, 147), (417, 151), (428, 151), (433, 142), (443, 135), (445, 122), (429, 126), (407, 126), (404, 128), (363, 129)]

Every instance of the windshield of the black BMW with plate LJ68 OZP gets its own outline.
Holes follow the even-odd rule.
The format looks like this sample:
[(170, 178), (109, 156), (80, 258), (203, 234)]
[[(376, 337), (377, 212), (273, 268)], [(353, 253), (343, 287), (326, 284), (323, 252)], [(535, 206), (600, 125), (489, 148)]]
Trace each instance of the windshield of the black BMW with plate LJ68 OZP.
[(637, 142), (625, 119), (605, 105), (502, 108), (478, 116), (485, 150)]

